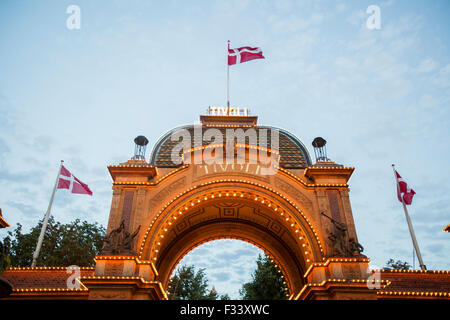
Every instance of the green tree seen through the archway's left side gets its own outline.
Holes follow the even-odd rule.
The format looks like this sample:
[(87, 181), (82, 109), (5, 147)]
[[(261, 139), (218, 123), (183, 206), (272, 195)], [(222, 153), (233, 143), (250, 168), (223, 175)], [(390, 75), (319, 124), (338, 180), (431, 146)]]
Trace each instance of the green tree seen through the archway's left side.
[(181, 266), (170, 278), (168, 285), (171, 300), (216, 300), (217, 291), (214, 287), (208, 291), (208, 279), (205, 269), (195, 271), (195, 267)]

